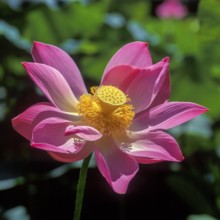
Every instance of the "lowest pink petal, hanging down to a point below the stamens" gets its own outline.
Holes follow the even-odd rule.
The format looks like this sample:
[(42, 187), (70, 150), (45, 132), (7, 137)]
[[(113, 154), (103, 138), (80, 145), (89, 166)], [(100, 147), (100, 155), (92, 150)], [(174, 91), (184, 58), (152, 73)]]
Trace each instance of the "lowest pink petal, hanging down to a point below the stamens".
[(96, 144), (95, 159), (99, 171), (115, 192), (126, 193), (128, 184), (138, 171), (137, 162), (122, 152), (110, 137)]

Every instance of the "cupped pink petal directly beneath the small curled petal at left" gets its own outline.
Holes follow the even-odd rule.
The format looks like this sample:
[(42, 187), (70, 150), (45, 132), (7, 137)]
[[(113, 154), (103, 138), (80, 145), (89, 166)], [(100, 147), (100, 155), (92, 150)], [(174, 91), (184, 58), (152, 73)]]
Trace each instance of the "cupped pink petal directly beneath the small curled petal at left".
[(61, 118), (47, 118), (35, 126), (31, 145), (46, 151), (75, 153), (85, 145), (85, 140), (74, 135), (65, 135), (71, 121)]

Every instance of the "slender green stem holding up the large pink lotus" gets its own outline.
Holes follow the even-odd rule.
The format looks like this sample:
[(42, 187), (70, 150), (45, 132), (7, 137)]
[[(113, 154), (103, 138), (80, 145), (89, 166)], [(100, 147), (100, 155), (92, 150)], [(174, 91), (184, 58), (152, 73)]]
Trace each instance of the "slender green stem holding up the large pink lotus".
[(83, 195), (84, 195), (84, 189), (85, 189), (85, 183), (86, 183), (86, 175), (87, 175), (87, 170), (88, 170), (91, 156), (92, 154), (90, 154), (87, 158), (83, 160), (83, 164), (80, 169), (79, 180), (78, 180), (77, 191), (76, 191), (76, 203), (75, 203), (73, 220), (80, 220), (82, 203), (83, 203)]

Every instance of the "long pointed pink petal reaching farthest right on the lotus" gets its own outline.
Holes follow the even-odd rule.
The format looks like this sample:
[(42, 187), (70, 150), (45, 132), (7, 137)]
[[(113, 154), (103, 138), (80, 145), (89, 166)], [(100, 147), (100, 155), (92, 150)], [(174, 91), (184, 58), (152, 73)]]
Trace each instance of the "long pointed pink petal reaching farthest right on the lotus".
[(207, 108), (191, 102), (167, 102), (135, 117), (131, 130), (170, 129), (206, 111)]

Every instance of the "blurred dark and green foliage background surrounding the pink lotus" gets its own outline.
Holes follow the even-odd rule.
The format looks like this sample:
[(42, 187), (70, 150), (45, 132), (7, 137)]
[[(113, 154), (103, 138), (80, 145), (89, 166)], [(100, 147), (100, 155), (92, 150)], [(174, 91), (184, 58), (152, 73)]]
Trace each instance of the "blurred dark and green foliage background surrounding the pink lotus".
[[(120, 3), (119, 3), (120, 2)], [(117, 195), (92, 160), (84, 219), (220, 219), (220, 1), (185, 0), (183, 19), (161, 19), (160, 0), (0, 2), (0, 219), (71, 220), (81, 163), (63, 164), (31, 148), (11, 119), (45, 100), (22, 61), (34, 40), (66, 50), (86, 85), (98, 85), (124, 44), (149, 42), (154, 62), (171, 58), (171, 100), (209, 112), (171, 130), (185, 160), (141, 165), (125, 195)]]

